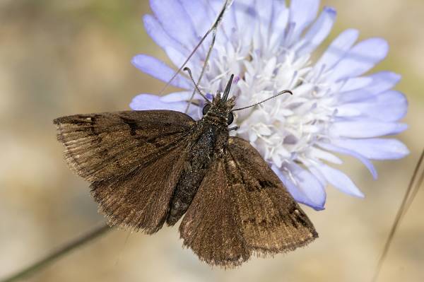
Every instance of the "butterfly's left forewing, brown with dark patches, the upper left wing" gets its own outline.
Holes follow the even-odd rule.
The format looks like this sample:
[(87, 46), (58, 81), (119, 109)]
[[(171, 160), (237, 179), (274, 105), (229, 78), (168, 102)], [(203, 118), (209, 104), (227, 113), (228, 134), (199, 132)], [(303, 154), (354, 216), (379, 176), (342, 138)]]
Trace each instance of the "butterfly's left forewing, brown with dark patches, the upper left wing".
[(184, 140), (194, 120), (167, 110), (76, 114), (54, 119), (71, 169), (90, 182), (146, 165)]

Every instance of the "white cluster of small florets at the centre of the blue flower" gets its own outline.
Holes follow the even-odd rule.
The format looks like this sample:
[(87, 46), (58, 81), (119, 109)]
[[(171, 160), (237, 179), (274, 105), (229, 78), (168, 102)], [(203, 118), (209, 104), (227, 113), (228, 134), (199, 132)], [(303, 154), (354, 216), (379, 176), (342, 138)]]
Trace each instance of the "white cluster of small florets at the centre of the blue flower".
[(299, 160), (318, 150), (312, 146), (327, 136), (336, 101), (330, 95), (331, 86), (319, 83), (321, 74), (310, 66), (310, 55), (296, 57), (290, 49), (257, 54), (232, 45), (216, 50), (201, 88), (222, 91), (230, 76), (224, 70), (230, 70), (240, 77), (231, 91), (237, 97), (236, 107), (260, 102), (281, 90), (293, 91), (293, 95), (237, 112), (237, 135), (279, 168), (285, 160)]

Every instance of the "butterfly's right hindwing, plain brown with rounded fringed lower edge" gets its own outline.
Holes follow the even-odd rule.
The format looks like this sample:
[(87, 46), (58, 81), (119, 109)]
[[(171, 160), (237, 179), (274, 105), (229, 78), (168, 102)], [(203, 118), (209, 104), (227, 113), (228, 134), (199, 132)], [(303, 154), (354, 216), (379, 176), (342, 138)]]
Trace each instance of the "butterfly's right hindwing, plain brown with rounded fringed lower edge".
[(219, 158), (206, 173), (179, 225), (184, 246), (192, 248), (202, 261), (211, 265), (242, 264), (249, 258), (249, 251), (232, 210), (225, 163)]

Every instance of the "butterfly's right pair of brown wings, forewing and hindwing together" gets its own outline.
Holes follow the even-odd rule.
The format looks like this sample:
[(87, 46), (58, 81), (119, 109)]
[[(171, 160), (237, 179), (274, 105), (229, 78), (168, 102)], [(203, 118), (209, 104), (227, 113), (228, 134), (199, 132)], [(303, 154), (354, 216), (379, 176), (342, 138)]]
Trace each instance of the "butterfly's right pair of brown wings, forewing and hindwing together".
[(283, 184), (245, 140), (230, 137), (179, 227), (184, 245), (212, 265), (288, 252), (317, 237)]

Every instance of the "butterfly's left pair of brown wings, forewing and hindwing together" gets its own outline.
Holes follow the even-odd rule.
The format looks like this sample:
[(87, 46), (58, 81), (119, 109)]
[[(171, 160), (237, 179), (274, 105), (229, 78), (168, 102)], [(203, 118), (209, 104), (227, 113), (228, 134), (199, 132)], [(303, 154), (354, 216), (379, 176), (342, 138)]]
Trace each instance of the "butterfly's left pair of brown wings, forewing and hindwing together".
[(100, 211), (113, 225), (146, 233), (159, 230), (166, 219), (194, 123), (167, 110), (54, 119), (66, 162), (92, 182)]

